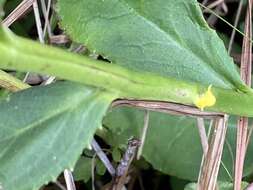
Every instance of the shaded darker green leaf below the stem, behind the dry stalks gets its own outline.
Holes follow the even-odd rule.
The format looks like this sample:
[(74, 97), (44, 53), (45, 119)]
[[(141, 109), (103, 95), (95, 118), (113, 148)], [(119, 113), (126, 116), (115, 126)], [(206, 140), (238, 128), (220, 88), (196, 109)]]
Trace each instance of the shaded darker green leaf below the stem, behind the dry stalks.
[[(144, 111), (116, 108), (105, 117), (103, 121), (105, 130), (99, 135), (115, 148), (125, 148), (129, 137), (140, 137), (143, 118)], [(224, 165), (220, 167), (220, 180), (230, 181), (233, 177), (235, 143), (236, 118), (232, 118), (229, 120), (224, 145), (222, 158)], [(253, 172), (252, 141), (248, 150), (244, 168), (245, 176)], [(150, 112), (149, 128), (142, 156), (159, 171), (196, 181), (202, 157), (196, 119)]]

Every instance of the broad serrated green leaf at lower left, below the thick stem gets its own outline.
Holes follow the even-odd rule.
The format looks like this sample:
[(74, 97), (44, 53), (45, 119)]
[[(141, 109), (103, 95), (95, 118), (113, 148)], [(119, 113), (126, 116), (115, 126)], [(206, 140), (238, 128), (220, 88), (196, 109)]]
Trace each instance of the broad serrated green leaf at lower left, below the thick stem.
[(1, 101), (2, 189), (37, 190), (64, 169), (73, 170), (113, 98), (103, 90), (58, 82)]

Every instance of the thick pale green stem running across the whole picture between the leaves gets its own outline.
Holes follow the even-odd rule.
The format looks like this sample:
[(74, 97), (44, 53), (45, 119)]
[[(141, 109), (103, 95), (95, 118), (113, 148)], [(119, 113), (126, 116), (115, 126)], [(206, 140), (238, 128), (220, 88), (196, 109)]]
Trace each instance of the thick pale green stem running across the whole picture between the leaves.
[[(0, 28), (0, 67), (49, 74), (114, 92), (118, 98), (194, 105), (207, 89), (152, 73), (139, 73), (20, 38)], [(253, 116), (253, 93), (213, 87), (216, 104), (208, 110)]]

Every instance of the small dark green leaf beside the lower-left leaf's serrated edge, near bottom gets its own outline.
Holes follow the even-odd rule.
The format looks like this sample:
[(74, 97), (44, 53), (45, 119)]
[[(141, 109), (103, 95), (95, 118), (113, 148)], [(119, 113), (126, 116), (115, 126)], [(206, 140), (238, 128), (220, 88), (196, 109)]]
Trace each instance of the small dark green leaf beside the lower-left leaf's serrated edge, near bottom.
[(83, 180), (85, 183), (91, 178), (92, 159), (81, 156), (75, 165), (73, 176), (75, 181)]

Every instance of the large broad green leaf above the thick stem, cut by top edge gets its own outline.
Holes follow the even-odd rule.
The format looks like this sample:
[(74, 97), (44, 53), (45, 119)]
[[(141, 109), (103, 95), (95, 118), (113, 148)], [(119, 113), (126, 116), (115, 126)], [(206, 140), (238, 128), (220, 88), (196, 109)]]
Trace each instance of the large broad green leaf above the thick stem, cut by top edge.
[(196, 0), (59, 0), (58, 10), (62, 27), (73, 40), (113, 63), (245, 90)]

